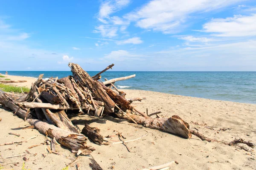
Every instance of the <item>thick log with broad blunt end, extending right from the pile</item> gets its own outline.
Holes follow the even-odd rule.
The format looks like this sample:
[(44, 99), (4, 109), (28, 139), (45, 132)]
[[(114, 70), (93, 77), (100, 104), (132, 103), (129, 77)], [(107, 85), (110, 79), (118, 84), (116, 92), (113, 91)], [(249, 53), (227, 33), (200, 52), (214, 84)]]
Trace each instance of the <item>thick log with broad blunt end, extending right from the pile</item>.
[[(183, 138), (191, 138), (191, 133), (189, 131), (189, 124), (183, 121), (179, 116), (172, 116), (170, 118), (151, 118), (138, 116), (130, 113), (126, 113), (132, 119), (134, 119), (138, 124), (144, 125), (151, 129), (163, 130), (164, 132), (172, 133)], [(122, 113), (116, 113), (120, 119), (126, 119), (129, 122), (131, 120), (123, 115)]]

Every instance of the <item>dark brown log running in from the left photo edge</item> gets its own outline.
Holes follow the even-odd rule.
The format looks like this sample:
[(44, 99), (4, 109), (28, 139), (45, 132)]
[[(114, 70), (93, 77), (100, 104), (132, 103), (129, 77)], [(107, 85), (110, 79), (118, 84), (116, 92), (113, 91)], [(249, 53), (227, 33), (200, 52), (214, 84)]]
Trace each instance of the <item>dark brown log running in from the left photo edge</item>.
[[(6, 108), (10, 108), (12, 111), (15, 111), (15, 115), (19, 116), (22, 119), (25, 119), (26, 111), (17, 106), (17, 103), (11, 99), (11, 96), (6, 94), (2, 90), (0, 90), (0, 103), (3, 104)], [(27, 117), (32, 118), (32, 115), (28, 114)]]

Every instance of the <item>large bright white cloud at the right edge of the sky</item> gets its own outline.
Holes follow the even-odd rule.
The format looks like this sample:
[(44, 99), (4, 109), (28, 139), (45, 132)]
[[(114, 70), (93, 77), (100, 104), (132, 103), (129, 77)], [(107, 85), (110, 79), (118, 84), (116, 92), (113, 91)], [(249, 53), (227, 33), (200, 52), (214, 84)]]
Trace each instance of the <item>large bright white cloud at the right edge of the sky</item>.
[(218, 37), (256, 36), (256, 14), (212, 19), (203, 28), (205, 32), (216, 33), (213, 35)]

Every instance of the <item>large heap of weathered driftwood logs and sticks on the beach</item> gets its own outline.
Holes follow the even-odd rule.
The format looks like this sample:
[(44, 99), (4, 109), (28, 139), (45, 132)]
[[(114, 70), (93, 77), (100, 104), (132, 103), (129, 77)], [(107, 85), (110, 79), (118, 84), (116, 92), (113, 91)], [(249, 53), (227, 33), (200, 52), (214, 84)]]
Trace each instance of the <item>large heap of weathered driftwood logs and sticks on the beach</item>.
[(70, 121), (68, 117), (70, 113), (98, 117), (117, 116), (120, 119), (186, 139), (195, 134), (202, 140), (207, 140), (200, 133), (189, 130), (188, 123), (179, 116), (151, 118), (150, 115), (157, 113), (145, 114), (134, 108), (131, 105), (133, 101), (141, 101), (145, 98), (126, 99), (126, 94), (119, 91), (114, 83), (135, 75), (105, 79), (105, 82), (102, 82), (101, 74), (112, 68), (113, 64), (92, 77), (77, 64), (69, 63), (69, 67), (73, 75), (61, 79), (56, 77), (44, 80), (41, 74), (28, 94), (7, 94), (0, 90), (0, 103), (14, 111), (15, 115), (34, 125), (41, 133), (56, 139), (58, 143), (70, 148), (77, 155), (87, 155), (95, 150), (86, 144), (86, 136), (96, 144), (102, 144), (103, 137), (99, 134), (99, 128), (89, 125), (85, 125), (82, 130), (86, 136), (81, 134)]

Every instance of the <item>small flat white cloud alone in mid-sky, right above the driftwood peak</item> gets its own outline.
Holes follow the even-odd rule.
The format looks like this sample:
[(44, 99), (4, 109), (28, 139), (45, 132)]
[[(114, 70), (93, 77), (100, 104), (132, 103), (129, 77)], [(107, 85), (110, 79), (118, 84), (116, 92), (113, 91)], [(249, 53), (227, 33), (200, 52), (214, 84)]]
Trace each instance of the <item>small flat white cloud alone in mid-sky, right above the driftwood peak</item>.
[(140, 59), (140, 57), (145, 57), (144, 55), (131, 54), (125, 50), (111, 51), (110, 54), (106, 54), (103, 59), (115, 60), (115, 61), (124, 61), (124, 60), (133, 60)]

